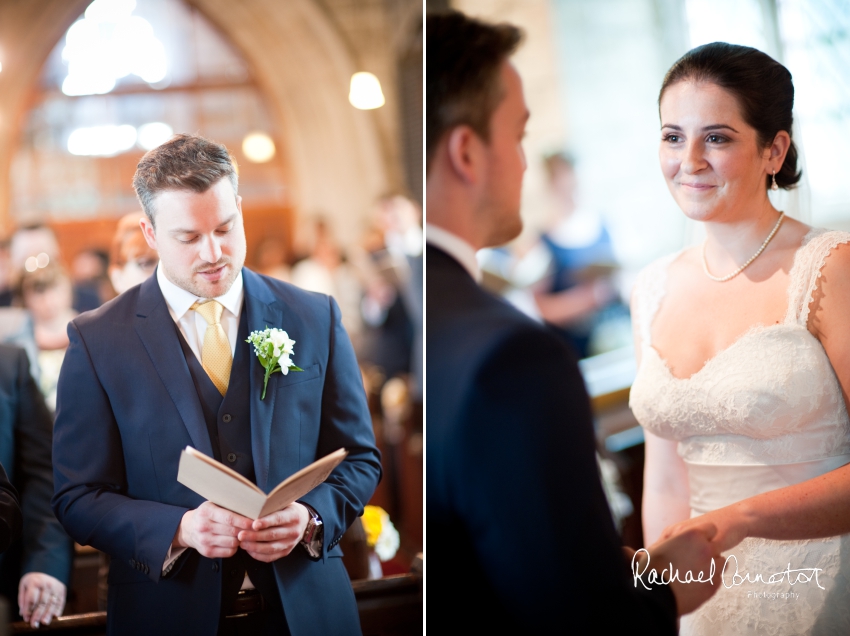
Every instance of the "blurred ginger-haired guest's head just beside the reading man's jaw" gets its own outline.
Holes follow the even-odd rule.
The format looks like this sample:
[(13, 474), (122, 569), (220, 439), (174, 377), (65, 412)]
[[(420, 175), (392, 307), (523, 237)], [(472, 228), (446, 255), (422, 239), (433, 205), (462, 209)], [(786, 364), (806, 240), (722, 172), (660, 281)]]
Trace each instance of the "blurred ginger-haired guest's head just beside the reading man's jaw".
[(146, 281), (156, 269), (159, 255), (148, 246), (139, 221), (144, 212), (131, 212), (118, 221), (109, 251), (109, 281), (116, 294)]

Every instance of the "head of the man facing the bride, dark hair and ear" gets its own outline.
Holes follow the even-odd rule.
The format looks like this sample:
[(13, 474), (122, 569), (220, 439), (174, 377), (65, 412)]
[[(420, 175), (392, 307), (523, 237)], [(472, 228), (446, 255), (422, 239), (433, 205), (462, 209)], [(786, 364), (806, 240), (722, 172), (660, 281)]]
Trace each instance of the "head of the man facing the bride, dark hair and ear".
[(474, 248), (514, 238), (528, 109), (508, 61), (519, 29), (451, 11), (427, 17), (428, 222)]

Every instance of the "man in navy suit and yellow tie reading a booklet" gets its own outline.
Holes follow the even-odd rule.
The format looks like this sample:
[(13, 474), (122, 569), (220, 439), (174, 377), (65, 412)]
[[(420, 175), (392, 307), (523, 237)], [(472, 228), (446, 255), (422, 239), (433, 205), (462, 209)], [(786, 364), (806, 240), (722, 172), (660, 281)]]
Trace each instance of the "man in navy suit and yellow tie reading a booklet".
[[(361, 375), (336, 302), (243, 267), (235, 167), (177, 135), (134, 187), (156, 274), (68, 326), (54, 433), (56, 516), (111, 558), (110, 634), (358, 634), (337, 546), (380, 479)], [(303, 371), (273, 374), (246, 343), (273, 327)], [(177, 482), (193, 446), (268, 492), (348, 456), (258, 520)]]

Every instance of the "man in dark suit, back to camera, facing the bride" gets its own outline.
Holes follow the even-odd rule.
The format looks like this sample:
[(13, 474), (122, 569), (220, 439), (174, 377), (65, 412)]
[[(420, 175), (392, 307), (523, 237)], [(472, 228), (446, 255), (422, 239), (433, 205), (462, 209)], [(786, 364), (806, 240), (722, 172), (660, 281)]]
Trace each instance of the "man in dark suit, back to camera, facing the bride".
[[(478, 286), (476, 250), (520, 232), (529, 117), (520, 34), (427, 19), (428, 602), (436, 632), (675, 634), (707, 583), (629, 576), (599, 482), (588, 397), (555, 335)], [(684, 578), (703, 534), (650, 548)], [(672, 593), (671, 593), (672, 591)]]

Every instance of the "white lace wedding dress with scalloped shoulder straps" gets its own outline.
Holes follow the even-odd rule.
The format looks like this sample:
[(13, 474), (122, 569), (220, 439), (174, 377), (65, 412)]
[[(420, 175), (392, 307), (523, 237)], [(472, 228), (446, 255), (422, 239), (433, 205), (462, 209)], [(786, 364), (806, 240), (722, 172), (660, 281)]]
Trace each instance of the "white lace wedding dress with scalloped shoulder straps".
[[(679, 442), (691, 516), (850, 463), (850, 420), (841, 388), (823, 347), (806, 327), (820, 270), (830, 251), (846, 242), (850, 233), (811, 230), (790, 271), (785, 319), (751, 327), (686, 379), (672, 375), (650, 338), (667, 267), (677, 254), (641, 272), (633, 316), (641, 364), (630, 405), (648, 431)], [(759, 574), (761, 580), (734, 585), (741, 579), (733, 579), (736, 564), (729, 555), (745, 581)], [(682, 618), (681, 634), (850, 634), (850, 535), (745, 539), (724, 556), (726, 584), (720, 583), (718, 567), (715, 581), (721, 587)], [(820, 570), (817, 579), (813, 568)], [(786, 570), (791, 574), (771, 582), (770, 575)]]

